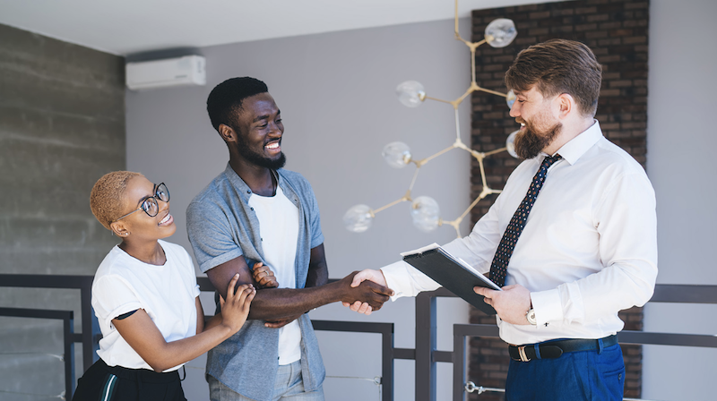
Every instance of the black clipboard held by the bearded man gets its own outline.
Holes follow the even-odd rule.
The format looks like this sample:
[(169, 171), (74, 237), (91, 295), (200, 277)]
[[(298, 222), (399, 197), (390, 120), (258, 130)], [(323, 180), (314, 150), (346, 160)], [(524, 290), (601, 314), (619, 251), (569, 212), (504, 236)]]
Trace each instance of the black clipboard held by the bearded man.
[(436, 283), (460, 296), (467, 303), (471, 303), (488, 315), (496, 314), (496, 310), (485, 303), (483, 295), (476, 294), (473, 287), (482, 286), (502, 291), (501, 288), (490, 281), (488, 277), (472, 269), (465, 261), (446, 252), (437, 243), (401, 255), (406, 263), (433, 278)]

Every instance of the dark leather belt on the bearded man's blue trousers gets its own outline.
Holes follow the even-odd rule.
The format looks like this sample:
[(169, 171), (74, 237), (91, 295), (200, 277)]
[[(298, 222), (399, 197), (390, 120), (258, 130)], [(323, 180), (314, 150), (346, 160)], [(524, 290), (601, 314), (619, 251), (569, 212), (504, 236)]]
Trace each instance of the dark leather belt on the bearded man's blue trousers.
[(595, 351), (618, 344), (618, 336), (612, 335), (598, 339), (566, 339), (548, 341), (524, 346), (508, 346), (508, 354), (514, 361), (530, 362), (533, 359), (555, 359), (565, 353)]

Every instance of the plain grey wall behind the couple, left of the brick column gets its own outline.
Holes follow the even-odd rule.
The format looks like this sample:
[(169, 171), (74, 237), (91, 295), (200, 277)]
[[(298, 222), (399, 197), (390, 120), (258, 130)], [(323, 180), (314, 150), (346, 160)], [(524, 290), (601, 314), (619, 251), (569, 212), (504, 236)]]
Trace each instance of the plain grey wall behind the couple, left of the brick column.
[[(470, 21), (462, 21), (470, 30)], [(464, 32), (470, 38), (470, 31)], [(207, 86), (146, 92), (128, 91), (127, 167), (164, 181), (172, 193), (177, 234), (170, 241), (190, 248), (185, 210), (228, 161), (228, 152), (206, 116), (210, 90), (225, 79), (250, 75), (266, 81), (281, 108), (286, 132), (282, 146), (287, 168), (312, 183), (322, 211), (322, 227), (331, 277), (352, 270), (379, 268), (398, 260), (399, 252), (455, 237), (450, 226), (423, 234), (411, 225), (408, 203), (376, 216), (364, 234), (346, 231), (341, 218), (357, 203), (378, 208), (399, 199), (409, 187), (412, 167), (396, 170), (381, 157), (384, 145), (405, 141), (417, 158), (450, 146), (455, 137), (453, 107), (427, 102), (402, 106), (394, 89), (402, 81), (422, 82), (437, 98), (458, 98), (470, 84), (470, 53), (454, 39), (454, 21), (438, 21), (372, 30), (281, 38), (202, 49)], [(489, 95), (486, 95), (489, 96)], [(469, 102), (465, 102), (468, 107)], [(462, 127), (468, 128), (468, 109)], [(463, 141), (469, 141), (464, 131)], [(470, 157), (452, 150), (421, 168), (414, 195), (436, 198), (446, 219), (457, 218), (469, 199)], [(468, 226), (463, 233), (467, 234)], [(205, 308), (209, 300), (204, 301)], [(449, 350), (450, 326), (466, 322), (465, 303), (439, 302), (439, 345)], [(414, 346), (413, 300), (388, 303), (362, 317), (334, 304), (312, 312), (313, 319), (396, 323), (399, 347)], [(373, 379), (380, 375), (379, 339), (372, 335), (320, 333), (328, 374)], [(376, 337), (376, 338), (374, 338)], [(190, 399), (206, 397), (203, 363), (190, 363)], [(396, 363), (396, 399), (413, 399), (413, 363)], [(450, 366), (440, 369), (442, 394), (450, 385)], [(377, 388), (368, 380), (331, 378), (327, 399), (370, 400)], [(445, 398), (444, 398), (445, 399)]]

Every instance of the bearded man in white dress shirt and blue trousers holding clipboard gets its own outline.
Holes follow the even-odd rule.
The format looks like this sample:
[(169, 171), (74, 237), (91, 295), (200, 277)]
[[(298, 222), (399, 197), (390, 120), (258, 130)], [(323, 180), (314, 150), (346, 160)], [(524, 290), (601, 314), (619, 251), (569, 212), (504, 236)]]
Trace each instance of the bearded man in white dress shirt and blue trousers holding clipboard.
[[(505, 84), (517, 96), (510, 115), (522, 125), (515, 150), (525, 160), (471, 234), (444, 245), (488, 273), (516, 209), (547, 166), (517, 243), (504, 252), (503, 291), (475, 288), (496, 309), (509, 345), (507, 400), (623, 397), (618, 311), (652, 297), (655, 197), (643, 167), (605, 139), (593, 118), (600, 82), (600, 64), (579, 42), (553, 39), (516, 57)], [(550, 157), (557, 161), (543, 164)], [(393, 299), (439, 286), (403, 261), (364, 270), (353, 284), (366, 279), (392, 288)]]

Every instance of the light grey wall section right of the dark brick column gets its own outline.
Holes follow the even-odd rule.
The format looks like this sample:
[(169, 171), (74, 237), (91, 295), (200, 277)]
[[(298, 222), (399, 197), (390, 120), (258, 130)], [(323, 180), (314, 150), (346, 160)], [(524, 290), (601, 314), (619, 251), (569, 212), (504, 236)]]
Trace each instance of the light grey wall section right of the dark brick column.
[[(717, 285), (717, 37), (712, 0), (650, 2), (647, 171), (657, 193), (661, 284)], [(648, 304), (644, 329), (717, 334), (714, 305)], [(643, 396), (713, 400), (717, 349), (644, 346)]]

